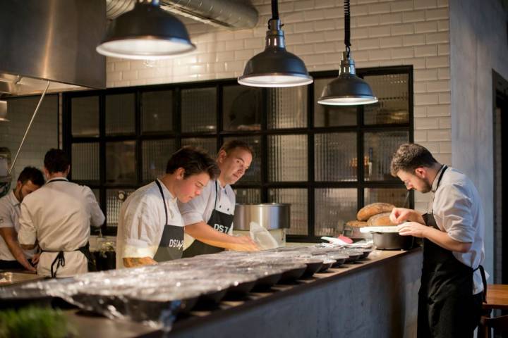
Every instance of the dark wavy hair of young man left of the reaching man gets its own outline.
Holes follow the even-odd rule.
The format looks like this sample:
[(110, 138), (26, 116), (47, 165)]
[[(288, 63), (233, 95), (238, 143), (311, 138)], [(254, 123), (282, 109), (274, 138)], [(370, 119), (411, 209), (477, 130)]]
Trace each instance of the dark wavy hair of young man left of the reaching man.
[(166, 166), (166, 173), (172, 174), (178, 168), (185, 170), (183, 178), (207, 173), (210, 176), (210, 180), (216, 180), (220, 174), (217, 162), (205, 150), (195, 146), (183, 146), (179, 151), (171, 155)]

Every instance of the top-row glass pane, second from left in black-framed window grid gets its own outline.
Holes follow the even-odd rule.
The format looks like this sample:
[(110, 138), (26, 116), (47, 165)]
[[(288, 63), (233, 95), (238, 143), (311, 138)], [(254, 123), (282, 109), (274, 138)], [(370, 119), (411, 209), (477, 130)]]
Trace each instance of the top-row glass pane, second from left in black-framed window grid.
[(106, 134), (133, 134), (135, 132), (135, 95), (110, 94), (106, 96)]

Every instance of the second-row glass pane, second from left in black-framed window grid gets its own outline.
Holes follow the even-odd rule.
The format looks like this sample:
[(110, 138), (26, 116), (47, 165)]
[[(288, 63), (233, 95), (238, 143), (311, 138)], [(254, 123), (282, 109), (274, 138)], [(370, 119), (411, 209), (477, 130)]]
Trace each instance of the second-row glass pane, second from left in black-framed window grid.
[(106, 181), (134, 184), (135, 141), (108, 142), (106, 144)]

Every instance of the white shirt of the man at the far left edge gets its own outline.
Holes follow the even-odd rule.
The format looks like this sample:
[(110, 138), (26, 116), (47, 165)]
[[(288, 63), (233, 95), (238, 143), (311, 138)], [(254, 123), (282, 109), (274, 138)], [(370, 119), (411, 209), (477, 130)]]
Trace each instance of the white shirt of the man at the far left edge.
[[(0, 199), (0, 227), (12, 227), (16, 234), (19, 231), (20, 202), (14, 194), (14, 190)], [(37, 249), (23, 250), (26, 258), (32, 258)], [(8, 249), (4, 237), (0, 236), (0, 261), (16, 261)]]

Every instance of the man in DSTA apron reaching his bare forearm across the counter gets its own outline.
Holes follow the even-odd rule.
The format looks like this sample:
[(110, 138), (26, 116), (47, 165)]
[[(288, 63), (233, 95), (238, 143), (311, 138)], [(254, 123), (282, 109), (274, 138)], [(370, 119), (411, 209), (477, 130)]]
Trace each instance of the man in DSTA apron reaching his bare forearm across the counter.
[(258, 250), (250, 237), (231, 236), (235, 194), (230, 184), (241, 179), (252, 159), (253, 149), (246, 142), (231, 140), (224, 143), (217, 155), (221, 170), (217, 180), (210, 180), (200, 196), (189, 203), (179, 203), (186, 225), (183, 257), (217, 253), (224, 249)]

